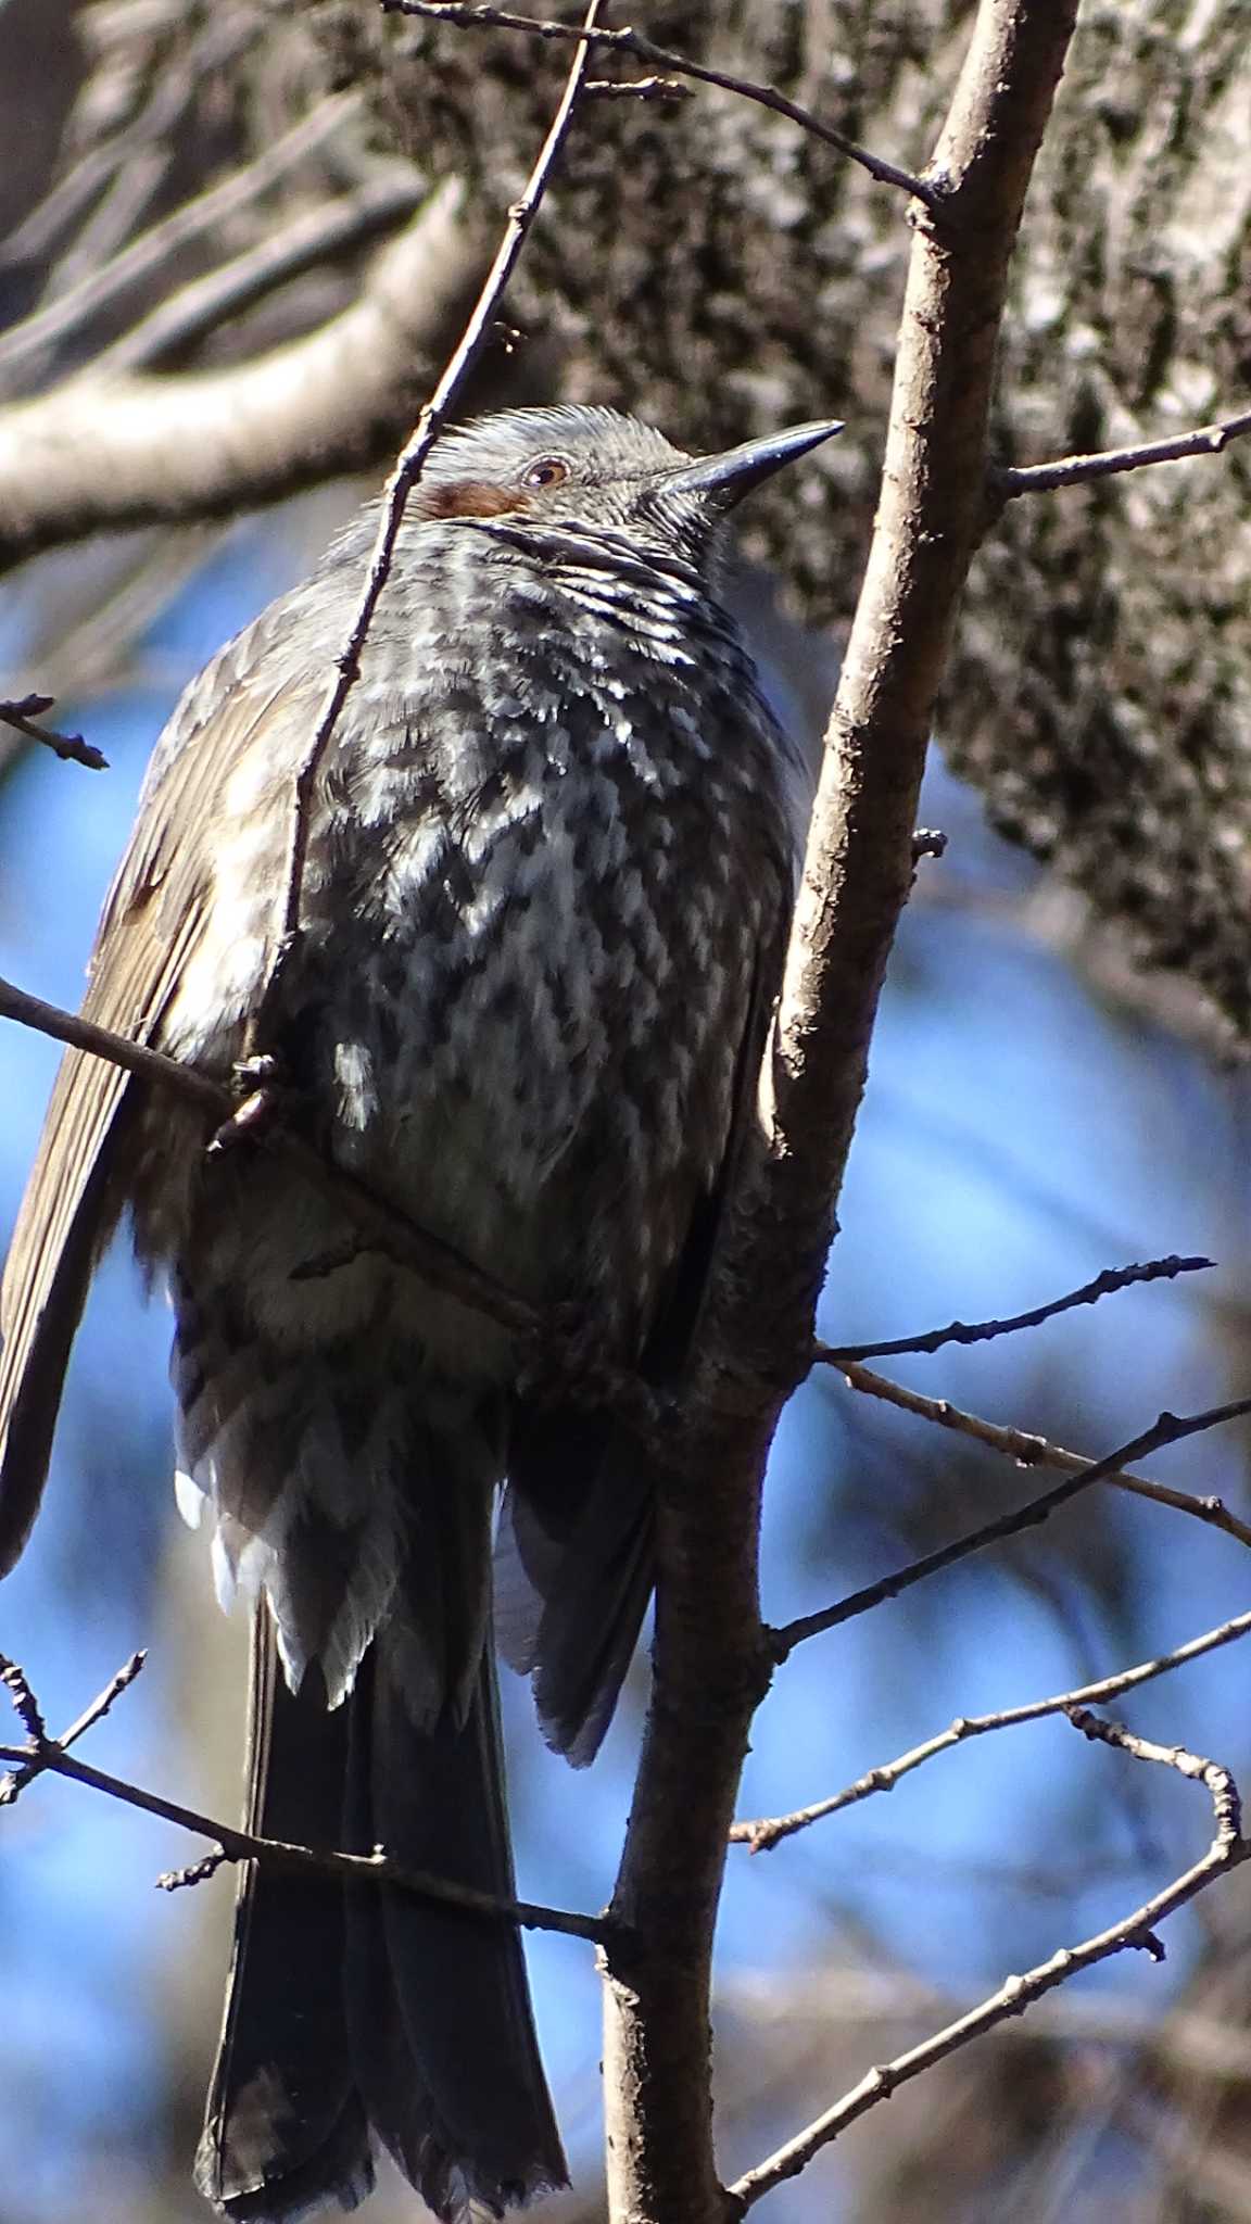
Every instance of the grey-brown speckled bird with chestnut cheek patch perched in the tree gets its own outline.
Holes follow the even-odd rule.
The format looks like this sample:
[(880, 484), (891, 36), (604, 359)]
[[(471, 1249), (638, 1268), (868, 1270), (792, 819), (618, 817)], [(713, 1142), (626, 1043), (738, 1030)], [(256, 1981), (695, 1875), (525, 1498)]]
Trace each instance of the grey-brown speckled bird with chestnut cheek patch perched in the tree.
[[(365, 509), (165, 729), (85, 1012), (229, 1081), (594, 1350), (681, 1366), (755, 1112), (806, 774), (719, 600), (723, 516), (837, 425), (690, 458), (610, 409), (445, 436), (307, 812)], [(370, 1248), (334, 1179), (69, 1052), (2, 1292), (0, 1570), (31, 1526), (87, 1283), (129, 1210), (169, 1285), (178, 1495), (256, 1595), (249, 1826), (512, 1893), (494, 1619), (588, 1761), (652, 1588), (612, 1412)], [(381, 2142), (441, 2217), (565, 2177), (516, 1933), (394, 1888), (240, 1886), (196, 2180), (354, 2206)]]

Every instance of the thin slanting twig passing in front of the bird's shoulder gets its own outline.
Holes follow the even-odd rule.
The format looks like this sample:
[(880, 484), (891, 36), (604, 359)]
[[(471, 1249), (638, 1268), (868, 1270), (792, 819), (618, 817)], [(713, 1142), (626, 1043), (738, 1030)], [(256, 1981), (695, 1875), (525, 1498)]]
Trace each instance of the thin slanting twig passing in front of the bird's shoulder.
[[(599, 4), (601, 0), (590, 0), (590, 7), (585, 11), (588, 31), (594, 29)], [(552, 118), (543, 147), (539, 149), (539, 160), (530, 171), (521, 200), (516, 200), (508, 211), (508, 225), (503, 238), (499, 242), (494, 262), (483, 280), (483, 289), (474, 302), (474, 309), (470, 311), (470, 320), (465, 325), (465, 331), (461, 334), (461, 342), (454, 349), (439, 385), (434, 387), (434, 394), (425, 403), (425, 409), (416, 420), (412, 438), (401, 451), (401, 458), (387, 480), (378, 534), (374, 538), (374, 552), (370, 556), (365, 592), (361, 596), (361, 605), (352, 620), (352, 632), (336, 658), (336, 674), (321, 707), (309, 752), (296, 776), (296, 792), (292, 798), (292, 850), (287, 858), (287, 883), (285, 883), (285, 905), (283, 905), (283, 947), (278, 952), (278, 961), (269, 981), (269, 994), (274, 994), (274, 985), (283, 972), (283, 959), (292, 950), (301, 932), (301, 894), (303, 894), (305, 856), (309, 841), (312, 794), (325, 752), (329, 749), (329, 743), (334, 738), (334, 729), (338, 725), (343, 705), (347, 703), (347, 696), (361, 676), (361, 652), (365, 647), (370, 625), (374, 623), (378, 598), (392, 572), (394, 547), (398, 540), (398, 529), (403, 523), (407, 496), (416, 485), (416, 480), (421, 478), (421, 469), (425, 465), (430, 449), (434, 447), (434, 440), (443, 427), (447, 409), (456, 400), (463, 380), (472, 371), (474, 363), (479, 360), (487, 342), (505, 287), (512, 278), (512, 271), (516, 269), (516, 260), (521, 256), (521, 249), (525, 247), (530, 227), (543, 205), (548, 180), (552, 176), (552, 169), (565, 142), (565, 133), (574, 118), (588, 64), (590, 64), (590, 47), (579, 44), (570, 73), (565, 78), (565, 89), (556, 105), (556, 113)]]

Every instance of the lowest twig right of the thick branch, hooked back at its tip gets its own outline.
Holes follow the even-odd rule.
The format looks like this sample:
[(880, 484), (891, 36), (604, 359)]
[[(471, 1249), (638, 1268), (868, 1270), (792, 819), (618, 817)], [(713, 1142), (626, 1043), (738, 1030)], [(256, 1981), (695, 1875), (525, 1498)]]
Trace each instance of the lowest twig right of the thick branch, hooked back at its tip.
[(946, 2024), (933, 2037), (924, 2039), (919, 2046), (908, 2048), (904, 2055), (895, 2055), (893, 2062), (884, 2062), (868, 2071), (866, 2077), (853, 2086), (833, 2108), (826, 2108), (812, 2124), (808, 2124), (795, 2139), (779, 2146), (766, 2162), (759, 2162), (755, 2171), (748, 2171), (728, 2191), (728, 2213), (735, 2217), (746, 2215), (755, 2202), (772, 2193), (775, 2186), (786, 2184), (788, 2177), (799, 2177), (799, 2173), (812, 2162), (830, 2139), (837, 2139), (848, 2124), (855, 2124), (861, 2115), (868, 2115), (879, 2102), (890, 2099), (899, 2086), (908, 2084), (913, 2077), (922, 2077), (937, 2062), (946, 2062), (948, 2055), (968, 2046), (971, 2039), (982, 2037), (997, 2024), (1008, 2022), (1013, 2015), (1024, 2015), (1035, 1999), (1044, 1993), (1053, 1993), (1077, 1970), (1093, 1968), (1097, 1962), (1106, 1962), (1115, 1953), (1126, 1953), (1131, 1948), (1146, 1950), (1153, 1959), (1162, 1955), (1160, 1939), (1155, 1935), (1158, 1924), (1166, 1915), (1175, 1915), (1186, 1902), (1195, 1899), (1215, 1877), (1231, 1868), (1238, 1868), (1251, 1853), (1251, 1844), (1240, 1835), (1242, 1815), (1238, 1801), (1238, 1786), (1227, 1768), (1215, 1761), (1204, 1761), (1195, 1753), (1186, 1753), (1180, 1746), (1153, 1746), (1146, 1739), (1131, 1737), (1129, 1730), (1120, 1730), (1117, 1724), (1100, 1724), (1097, 1717), (1077, 1719), (1077, 1728), (1086, 1737), (1100, 1737), (1104, 1744), (1117, 1746), (1133, 1759), (1153, 1761), (1166, 1768), (1178, 1768), (1184, 1777), (1202, 1781), (1211, 1804), (1213, 1804), (1213, 1841), (1204, 1853), (1202, 1861), (1186, 1868), (1153, 1899), (1144, 1899), (1133, 1915), (1126, 1915), (1120, 1924), (1111, 1924), (1109, 1930), (1095, 1933), (1095, 1937), (1082, 1939), (1080, 1946), (1062, 1946), (1060, 1953), (1051, 1955), (1048, 1962), (1040, 1962), (1037, 1968), (1026, 1970), (1024, 1977), (1006, 1977), (997, 1993), (984, 1999), (968, 2015), (957, 2017), (957, 2022)]

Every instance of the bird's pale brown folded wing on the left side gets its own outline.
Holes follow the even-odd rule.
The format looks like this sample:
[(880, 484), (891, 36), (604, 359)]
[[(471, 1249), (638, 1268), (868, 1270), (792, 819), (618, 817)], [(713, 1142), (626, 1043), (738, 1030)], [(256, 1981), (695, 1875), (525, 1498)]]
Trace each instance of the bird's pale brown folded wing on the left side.
[[(205, 927), (223, 783), (263, 718), (267, 749), (272, 718), (292, 738), (312, 734), (316, 687), (280, 692), (265, 678), (274, 614), (232, 641), (178, 703), (105, 898), (82, 1012), (138, 1043), (158, 1030)], [(138, 1083), (120, 1065), (65, 1052), (0, 1290), (0, 1575), (38, 1512), (69, 1346), (125, 1203), (120, 1163), (136, 1105)]]

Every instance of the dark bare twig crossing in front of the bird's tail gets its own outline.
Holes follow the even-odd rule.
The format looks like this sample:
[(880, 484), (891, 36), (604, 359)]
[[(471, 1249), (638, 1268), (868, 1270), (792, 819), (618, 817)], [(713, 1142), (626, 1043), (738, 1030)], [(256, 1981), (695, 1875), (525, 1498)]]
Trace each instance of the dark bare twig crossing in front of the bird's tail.
[[(82, 1721), (76, 1724), (76, 1735), (82, 1735), (91, 1721), (100, 1719), (107, 1706), (111, 1706), (118, 1697), (118, 1690), (134, 1681), (136, 1672), (136, 1664), (129, 1661), (120, 1675), (114, 1677), (109, 1690), (102, 1692)], [(403, 1861), (392, 1861), (383, 1848), (376, 1848), (374, 1853), (329, 1853), (314, 1846), (289, 1846), (283, 1839), (254, 1837), (249, 1830), (236, 1830), (229, 1824), (211, 1821), (207, 1815), (198, 1815), (194, 1808), (180, 1806), (176, 1799), (162, 1799), (158, 1793), (147, 1793), (138, 1784), (127, 1784), (122, 1777), (107, 1775), (102, 1768), (91, 1768), (87, 1761), (73, 1759), (73, 1755), (65, 1750), (65, 1741), (47, 1735), (38, 1701), (16, 1661), (0, 1657), (0, 1684), (9, 1688), (13, 1706), (22, 1719), (22, 1728), (29, 1737), (27, 1746), (0, 1746), (0, 1761), (7, 1761), (16, 1770), (9, 1779), (9, 1804), (31, 1775), (49, 1770), (49, 1775), (69, 1777), (73, 1784), (87, 1784), (91, 1790), (105, 1793), (109, 1799), (120, 1799), (122, 1806), (140, 1808), (145, 1815), (158, 1815), (162, 1821), (178, 1824), (180, 1830), (194, 1830), (196, 1837), (211, 1839), (220, 1861), (267, 1861), (272, 1868), (287, 1868), (301, 1875), (338, 1877), (345, 1884), (394, 1884), (423, 1899), (445, 1899), (450, 1906), (465, 1908), (472, 1915), (494, 1915), (503, 1922), (521, 1924), (523, 1930), (559, 1930), (565, 1937), (590, 1939), (597, 1946), (601, 1946), (614, 1930), (605, 1917), (577, 1915), (568, 1908), (545, 1908), (530, 1899), (496, 1899), (492, 1893), (479, 1893), (470, 1884), (432, 1877), (423, 1868), (407, 1868)], [(214, 1866), (220, 1866), (220, 1861)], [(185, 1877), (178, 1882), (185, 1882)]]

